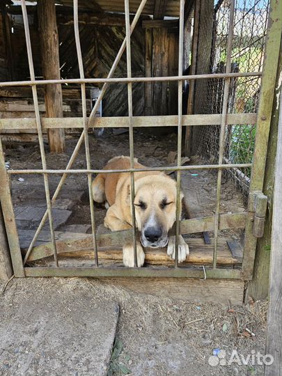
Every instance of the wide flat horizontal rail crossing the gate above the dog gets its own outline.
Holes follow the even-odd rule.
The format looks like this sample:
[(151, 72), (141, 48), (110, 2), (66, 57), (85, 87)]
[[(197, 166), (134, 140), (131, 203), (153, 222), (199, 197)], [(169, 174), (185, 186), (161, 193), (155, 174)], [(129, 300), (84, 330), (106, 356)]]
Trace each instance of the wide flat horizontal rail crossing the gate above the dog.
[[(133, 116), (134, 127), (176, 127), (178, 116)], [(217, 125), (221, 123), (221, 115), (183, 115), (183, 125)], [(255, 124), (256, 113), (230, 113), (227, 116), (227, 124)], [(82, 118), (42, 118), (42, 127), (47, 130), (52, 127), (83, 128)], [(128, 127), (127, 117), (95, 118), (95, 127)], [(36, 129), (36, 120), (33, 118), (7, 118), (0, 119), (1, 130)]]

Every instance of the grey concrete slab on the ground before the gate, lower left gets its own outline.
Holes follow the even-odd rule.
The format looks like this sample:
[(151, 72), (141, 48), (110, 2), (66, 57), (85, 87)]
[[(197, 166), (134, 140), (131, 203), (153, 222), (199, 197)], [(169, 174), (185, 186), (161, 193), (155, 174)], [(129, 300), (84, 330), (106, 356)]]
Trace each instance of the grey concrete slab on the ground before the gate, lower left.
[(107, 375), (118, 304), (86, 281), (37, 281), (0, 297), (0, 375)]

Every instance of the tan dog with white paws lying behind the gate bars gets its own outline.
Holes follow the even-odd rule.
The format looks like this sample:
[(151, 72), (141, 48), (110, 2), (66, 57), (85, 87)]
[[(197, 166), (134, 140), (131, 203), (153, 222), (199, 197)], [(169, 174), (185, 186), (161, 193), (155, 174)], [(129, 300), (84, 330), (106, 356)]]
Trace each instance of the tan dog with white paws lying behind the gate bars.
[[(134, 158), (134, 169), (145, 166)], [(130, 169), (130, 157), (114, 157), (104, 170)], [(104, 226), (111, 231), (132, 228), (130, 173), (99, 173), (92, 182), (93, 200), (108, 203)], [(159, 248), (167, 245), (167, 253), (175, 258), (175, 236), (169, 237), (169, 230), (176, 219), (176, 182), (161, 171), (140, 171), (134, 173), (134, 207), (136, 227), (140, 240), (136, 242), (137, 265), (145, 260), (143, 247)], [(180, 192), (180, 202), (183, 194)], [(180, 207), (181, 215), (181, 207)], [(189, 255), (189, 246), (179, 235), (178, 261), (182, 263)], [(133, 243), (123, 245), (123, 264), (134, 267)]]

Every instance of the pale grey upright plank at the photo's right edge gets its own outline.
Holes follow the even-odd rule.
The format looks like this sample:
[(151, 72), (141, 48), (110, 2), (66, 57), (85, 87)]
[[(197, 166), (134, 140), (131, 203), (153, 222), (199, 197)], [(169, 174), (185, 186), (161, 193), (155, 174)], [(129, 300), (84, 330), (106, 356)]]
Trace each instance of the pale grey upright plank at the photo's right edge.
[(280, 95), (279, 130), (276, 155), (274, 203), (272, 219), (272, 250), (270, 260), (269, 306), (267, 316), (266, 354), (274, 362), (265, 366), (265, 376), (282, 375), (282, 95)]

